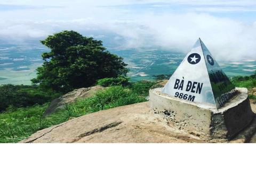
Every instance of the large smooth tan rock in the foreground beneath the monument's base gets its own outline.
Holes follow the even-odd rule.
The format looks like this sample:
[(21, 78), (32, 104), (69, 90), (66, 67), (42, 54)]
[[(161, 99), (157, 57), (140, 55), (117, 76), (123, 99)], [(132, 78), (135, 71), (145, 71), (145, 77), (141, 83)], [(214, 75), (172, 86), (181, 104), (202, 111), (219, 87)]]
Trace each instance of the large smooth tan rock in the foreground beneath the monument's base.
[[(236, 141), (249, 141), (250, 134), (241, 134)], [(249, 127), (249, 128), (250, 128)], [(171, 125), (164, 115), (150, 112), (149, 102), (121, 106), (74, 118), (73, 120), (38, 131), (23, 143), (102, 143), (102, 142), (227, 142), (207, 140), (204, 135), (188, 133)], [(229, 142), (229, 141), (228, 141)]]

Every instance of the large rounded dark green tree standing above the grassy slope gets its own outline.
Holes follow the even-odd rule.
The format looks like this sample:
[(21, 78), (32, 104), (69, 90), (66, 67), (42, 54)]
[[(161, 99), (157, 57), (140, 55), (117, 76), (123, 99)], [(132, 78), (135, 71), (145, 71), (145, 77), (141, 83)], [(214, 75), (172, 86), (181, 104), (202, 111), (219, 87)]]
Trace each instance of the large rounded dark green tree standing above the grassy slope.
[(128, 72), (122, 57), (110, 54), (102, 47), (102, 41), (78, 32), (54, 33), (41, 43), (51, 51), (42, 54), (44, 63), (37, 68), (37, 78), (31, 80), (39, 83), (39, 88), (68, 92)]

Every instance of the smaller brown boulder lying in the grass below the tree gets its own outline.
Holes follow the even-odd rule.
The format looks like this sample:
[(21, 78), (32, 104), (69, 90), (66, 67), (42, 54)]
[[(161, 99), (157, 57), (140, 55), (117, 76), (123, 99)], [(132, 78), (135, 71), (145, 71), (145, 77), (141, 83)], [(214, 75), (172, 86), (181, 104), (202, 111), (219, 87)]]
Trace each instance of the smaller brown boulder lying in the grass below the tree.
[(46, 109), (43, 116), (54, 113), (58, 107), (65, 105), (65, 103), (74, 103), (77, 99), (85, 99), (91, 97), (95, 94), (96, 91), (103, 89), (104, 87), (102, 86), (93, 86), (89, 88), (81, 88), (71, 91), (66, 95), (52, 100), (50, 106)]

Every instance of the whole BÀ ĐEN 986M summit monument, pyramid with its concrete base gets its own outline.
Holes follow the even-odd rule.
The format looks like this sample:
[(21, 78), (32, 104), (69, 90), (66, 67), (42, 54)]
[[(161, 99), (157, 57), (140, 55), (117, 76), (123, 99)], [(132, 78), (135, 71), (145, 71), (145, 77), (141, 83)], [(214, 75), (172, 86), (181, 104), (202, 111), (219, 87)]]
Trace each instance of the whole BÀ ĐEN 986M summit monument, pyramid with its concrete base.
[(209, 140), (230, 140), (255, 117), (248, 90), (234, 87), (200, 38), (164, 88), (149, 90), (149, 101), (169, 125)]

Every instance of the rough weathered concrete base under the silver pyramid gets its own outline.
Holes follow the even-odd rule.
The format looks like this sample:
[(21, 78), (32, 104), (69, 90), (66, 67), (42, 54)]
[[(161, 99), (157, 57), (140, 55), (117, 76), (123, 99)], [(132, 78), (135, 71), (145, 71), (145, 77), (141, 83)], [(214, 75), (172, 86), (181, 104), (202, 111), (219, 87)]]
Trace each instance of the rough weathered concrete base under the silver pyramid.
[(174, 126), (191, 134), (211, 139), (234, 138), (254, 120), (248, 91), (236, 88), (237, 94), (220, 109), (212, 105), (181, 100), (161, 92), (162, 88), (149, 91), (151, 111), (162, 114)]

